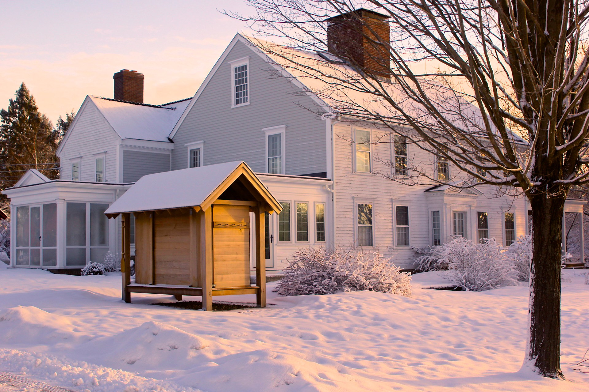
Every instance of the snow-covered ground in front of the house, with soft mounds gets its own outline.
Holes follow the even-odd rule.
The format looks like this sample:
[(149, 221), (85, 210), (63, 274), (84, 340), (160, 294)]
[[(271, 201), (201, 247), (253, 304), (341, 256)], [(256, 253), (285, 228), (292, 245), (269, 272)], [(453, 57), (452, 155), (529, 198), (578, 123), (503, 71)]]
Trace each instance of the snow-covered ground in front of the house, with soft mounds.
[(411, 298), (282, 298), (271, 283), (274, 306), (204, 312), (149, 305), (170, 296), (125, 304), (118, 274), (0, 268), (0, 371), (74, 391), (589, 391), (574, 370), (589, 349), (589, 286), (585, 271), (564, 273), (570, 381), (519, 370), (527, 287), (424, 289), (444, 284), (439, 273), (416, 274)]

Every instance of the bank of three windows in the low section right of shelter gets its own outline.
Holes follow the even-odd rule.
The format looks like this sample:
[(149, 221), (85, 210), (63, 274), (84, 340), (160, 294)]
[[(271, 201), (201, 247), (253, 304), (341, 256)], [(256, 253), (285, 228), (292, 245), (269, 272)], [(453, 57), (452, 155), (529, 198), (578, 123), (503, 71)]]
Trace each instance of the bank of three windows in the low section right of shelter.
[[(292, 242), (292, 204), (291, 202), (280, 202), (282, 211), (278, 215), (279, 242)], [(325, 242), (325, 203), (315, 203), (314, 214), (309, 210), (310, 206), (312, 205), (308, 202), (294, 203), (294, 238), (296, 242), (309, 242), (309, 225), (310, 222), (314, 222), (315, 241)]]

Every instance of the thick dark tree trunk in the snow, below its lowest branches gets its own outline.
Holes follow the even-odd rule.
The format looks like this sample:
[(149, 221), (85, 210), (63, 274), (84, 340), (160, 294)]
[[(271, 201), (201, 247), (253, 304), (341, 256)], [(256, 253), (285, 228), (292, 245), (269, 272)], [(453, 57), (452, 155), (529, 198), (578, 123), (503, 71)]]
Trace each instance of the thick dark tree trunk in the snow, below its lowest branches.
[(565, 195), (528, 195), (534, 247), (530, 276), (530, 341), (527, 361), (544, 377), (560, 369), (560, 272)]

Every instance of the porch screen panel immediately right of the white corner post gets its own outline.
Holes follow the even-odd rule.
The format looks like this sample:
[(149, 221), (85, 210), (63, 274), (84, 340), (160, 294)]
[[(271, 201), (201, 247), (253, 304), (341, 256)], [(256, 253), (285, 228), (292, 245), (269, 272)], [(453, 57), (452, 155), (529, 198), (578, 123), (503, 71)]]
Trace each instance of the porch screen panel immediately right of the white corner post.
[(65, 208), (66, 229), (65, 264), (86, 265), (86, 203), (67, 203)]

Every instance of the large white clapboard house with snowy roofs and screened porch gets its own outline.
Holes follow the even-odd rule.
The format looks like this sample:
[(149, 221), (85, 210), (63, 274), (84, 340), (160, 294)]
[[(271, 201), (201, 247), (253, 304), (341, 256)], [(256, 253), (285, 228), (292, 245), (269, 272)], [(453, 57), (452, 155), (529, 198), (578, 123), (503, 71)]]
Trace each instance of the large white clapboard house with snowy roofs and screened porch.
[[(362, 12), (369, 23), (382, 23), (374, 16)], [(350, 45), (365, 55), (362, 42)], [(303, 55), (319, 60), (329, 53)], [(411, 159), (438, 170), (440, 179), (457, 169), (370, 123), (317, 116), (329, 101), (279, 63), (237, 34), (192, 98), (164, 105), (143, 103), (141, 73), (115, 73), (114, 99), (87, 96), (59, 145), (61, 178), (29, 170), (4, 191), (11, 199), (11, 266), (62, 270), (101, 262), (108, 250), (121, 252), (120, 220), (104, 211), (135, 181), (236, 160), (283, 207), (267, 217), (268, 273), (282, 270), (300, 247), (355, 244), (409, 269), (414, 246), (453, 235), (508, 246), (528, 232), (524, 197), (497, 197), (487, 185), (459, 190), (385, 179), (382, 173), (403, 175), (386, 162)], [(569, 200), (567, 211), (581, 212), (582, 204)]]

